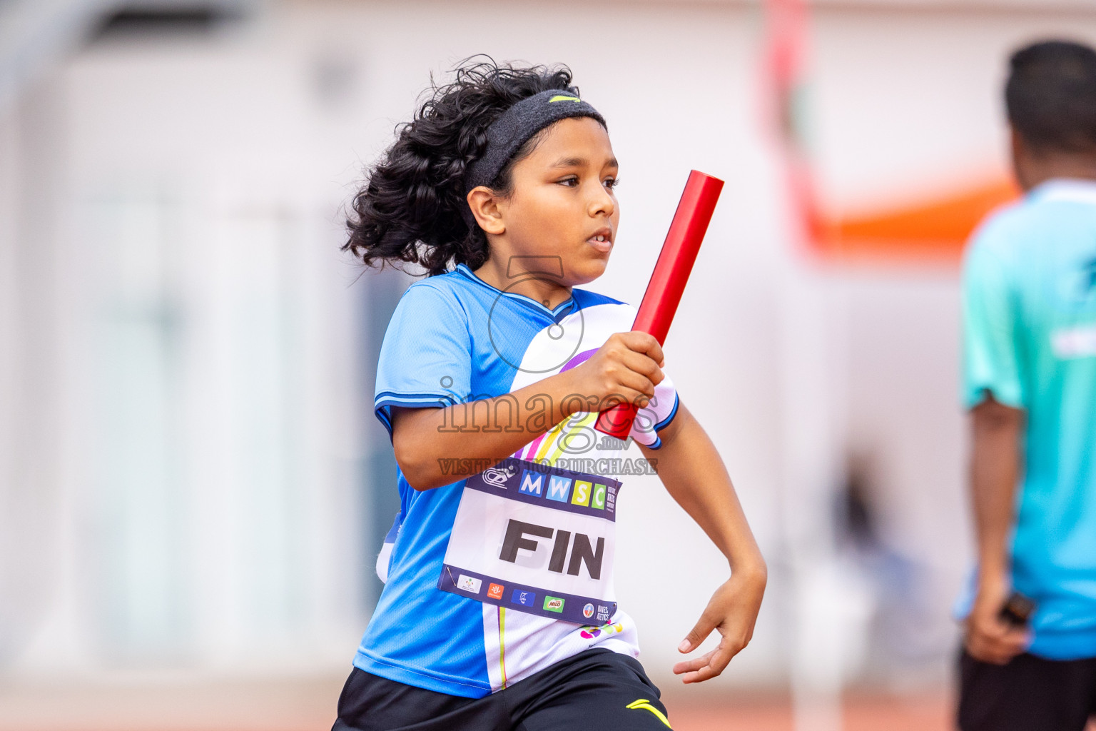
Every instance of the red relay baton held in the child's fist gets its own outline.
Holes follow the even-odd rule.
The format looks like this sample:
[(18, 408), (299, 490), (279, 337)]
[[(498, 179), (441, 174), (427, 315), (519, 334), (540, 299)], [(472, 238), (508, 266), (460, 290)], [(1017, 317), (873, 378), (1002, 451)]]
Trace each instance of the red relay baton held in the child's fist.
[[(685, 192), (677, 203), (674, 219), (670, 222), (670, 231), (662, 244), (662, 252), (654, 265), (651, 281), (647, 283), (643, 301), (639, 304), (632, 330), (654, 335), (659, 344), (665, 342), (670, 323), (681, 304), (685, 283), (700, 251), (700, 242), (711, 222), (711, 214), (716, 210), (716, 202), (723, 190), (723, 181), (711, 175), (693, 170), (685, 183)], [(594, 429), (603, 434), (625, 439), (631, 431), (636, 419), (636, 407), (631, 403), (618, 403), (597, 415)]]

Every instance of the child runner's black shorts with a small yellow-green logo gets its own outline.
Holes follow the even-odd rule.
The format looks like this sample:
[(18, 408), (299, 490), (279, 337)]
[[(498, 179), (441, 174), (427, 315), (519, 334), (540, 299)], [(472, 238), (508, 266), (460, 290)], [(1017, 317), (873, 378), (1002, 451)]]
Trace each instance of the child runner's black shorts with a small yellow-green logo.
[(643, 666), (585, 650), (483, 698), (461, 698), (355, 667), (332, 731), (666, 731)]

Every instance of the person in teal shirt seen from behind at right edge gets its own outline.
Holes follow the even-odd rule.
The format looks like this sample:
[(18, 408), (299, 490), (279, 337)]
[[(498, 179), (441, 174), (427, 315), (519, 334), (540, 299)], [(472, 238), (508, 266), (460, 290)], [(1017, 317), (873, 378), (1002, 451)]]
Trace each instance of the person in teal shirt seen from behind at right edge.
[[(962, 731), (1082, 731), (1096, 715), (1096, 52), (1011, 59), (1018, 203), (963, 263), (978, 571), (959, 614)], [(1026, 624), (1002, 608), (1035, 603)]]

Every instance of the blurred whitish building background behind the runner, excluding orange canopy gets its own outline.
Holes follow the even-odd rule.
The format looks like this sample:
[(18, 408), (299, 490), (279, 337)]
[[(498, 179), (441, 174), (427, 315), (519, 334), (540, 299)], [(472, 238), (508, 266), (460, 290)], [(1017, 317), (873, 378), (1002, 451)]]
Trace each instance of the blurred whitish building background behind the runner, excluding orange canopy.
[[(1008, 53), (1096, 41), (1088, 0), (810, 10), (833, 210), (1005, 174)], [(666, 367), (770, 580), (750, 648), (680, 689), (726, 564), (626, 486), (618, 592), (676, 728), (906, 728), (849, 715), (878, 698), (948, 728), (958, 266), (800, 240), (765, 32), (746, 0), (0, 0), (0, 728), (333, 721), (397, 505), (373, 367), (410, 282), (339, 251), (342, 212), (477, 53), (570, 65), (608, 121), (621, 233), (591, 288), (638, 302), (688, 170), (727, 180)]]

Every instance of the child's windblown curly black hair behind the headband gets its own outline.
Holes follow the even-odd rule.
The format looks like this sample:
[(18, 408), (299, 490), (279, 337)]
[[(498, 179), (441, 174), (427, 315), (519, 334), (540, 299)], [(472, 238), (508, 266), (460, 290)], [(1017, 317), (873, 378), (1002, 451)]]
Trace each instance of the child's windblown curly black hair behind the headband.
[[(579, 95), (566, 66), (514, 67), (475, 58), (461, 61), (452, 83), (431, 87), (430, 99), (397, 127), (396, 142), (354, 196), (342, 250), (367, 266), (401, 261), (421, 265), (430, 276), (444, 274), (450, 263), (481, 266), (487, 237), (479, 226), (469, 227), (461, 212), (468, 205), (465, 170), (483, 153), (487, 128), (526, 96), (549, 89)], [(514, 163), (536, 141), (534, 136), (491, 182), (495, 193), (511, 193)]]

